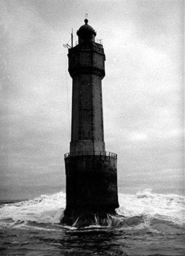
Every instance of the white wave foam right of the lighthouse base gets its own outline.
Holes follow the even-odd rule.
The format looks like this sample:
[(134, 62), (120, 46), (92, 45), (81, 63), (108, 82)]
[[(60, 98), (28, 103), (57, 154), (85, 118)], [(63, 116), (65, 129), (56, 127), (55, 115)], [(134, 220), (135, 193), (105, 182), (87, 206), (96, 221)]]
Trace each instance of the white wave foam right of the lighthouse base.
[(154, 194), (151, 189), (145, 189), (136, 195), (119, 194), (119, 201), (118, 213), (127, 217), (150, 215), (178, 224), (185, 222), (185, 197), (181, 195)]

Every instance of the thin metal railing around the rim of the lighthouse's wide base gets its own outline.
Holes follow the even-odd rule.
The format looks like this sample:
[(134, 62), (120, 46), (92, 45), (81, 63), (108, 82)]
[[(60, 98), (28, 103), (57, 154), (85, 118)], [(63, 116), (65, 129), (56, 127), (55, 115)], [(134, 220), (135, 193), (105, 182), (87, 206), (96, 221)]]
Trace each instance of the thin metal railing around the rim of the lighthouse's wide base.
[(112, 156), (113, 158), (117, 159), (117, 154), (109, 152), (109, 151), (104, 151), (104, 152), (102, 152), (102, 151), (78, 151), (78, 152), (72, 152), (72, 153), (65, 153), (64, 158), (71, 157), (71, 156), (85, 156), (85, 155), (88, 155), (88, 156), (93, 156), (93, 155)]

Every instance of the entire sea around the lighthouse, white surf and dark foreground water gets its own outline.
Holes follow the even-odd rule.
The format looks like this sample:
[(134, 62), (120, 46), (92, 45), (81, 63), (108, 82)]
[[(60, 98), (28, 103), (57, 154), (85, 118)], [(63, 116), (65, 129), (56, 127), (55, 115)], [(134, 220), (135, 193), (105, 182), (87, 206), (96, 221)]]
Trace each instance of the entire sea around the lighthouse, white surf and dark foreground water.
[(0, 255), (185, 255), (185, 197), (146, 189), (119, 194), (107, 227), (60, 226), (65, 193), (4, 202)]

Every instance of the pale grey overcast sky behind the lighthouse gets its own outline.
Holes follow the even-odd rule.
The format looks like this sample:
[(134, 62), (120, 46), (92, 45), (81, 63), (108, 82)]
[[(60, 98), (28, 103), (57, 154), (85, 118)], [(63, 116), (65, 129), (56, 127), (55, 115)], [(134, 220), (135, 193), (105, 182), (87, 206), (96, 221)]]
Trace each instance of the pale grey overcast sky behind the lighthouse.
[[(0, 0), (1, 199), (65, 189), (71, 28), (103, 39), (107, 151), (119, 190), (181, 193), (183, 1)], [(121, 190), (122, 189), (122, 190)], [(171, 190), (170, 190), (171, 189)]]

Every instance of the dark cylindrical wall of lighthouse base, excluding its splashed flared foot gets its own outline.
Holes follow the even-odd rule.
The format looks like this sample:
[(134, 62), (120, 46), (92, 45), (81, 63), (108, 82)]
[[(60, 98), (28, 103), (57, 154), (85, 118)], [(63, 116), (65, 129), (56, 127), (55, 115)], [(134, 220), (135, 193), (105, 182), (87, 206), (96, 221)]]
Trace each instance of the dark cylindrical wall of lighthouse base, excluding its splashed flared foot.
[(67, 208), (118, 208), (117, 159), (113, 156), (65, 158)]

